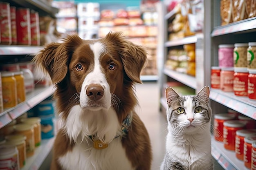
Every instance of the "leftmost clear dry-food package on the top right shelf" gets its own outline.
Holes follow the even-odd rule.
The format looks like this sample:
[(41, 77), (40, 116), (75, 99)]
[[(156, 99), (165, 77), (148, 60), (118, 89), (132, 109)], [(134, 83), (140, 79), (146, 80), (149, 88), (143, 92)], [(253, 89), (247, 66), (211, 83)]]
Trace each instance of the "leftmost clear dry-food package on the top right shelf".
[(220, 17), (222, 20), (221, 25), (226, 25), (233, 22), (231, 15), (232, 15), (231, 0), (221, 0), (220, 1)]

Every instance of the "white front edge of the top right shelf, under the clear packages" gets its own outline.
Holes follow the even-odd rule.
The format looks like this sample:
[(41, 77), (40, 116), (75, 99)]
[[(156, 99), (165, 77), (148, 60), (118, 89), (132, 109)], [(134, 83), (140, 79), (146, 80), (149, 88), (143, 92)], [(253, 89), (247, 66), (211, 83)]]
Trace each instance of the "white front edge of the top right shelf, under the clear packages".
[(225, 26), (218, 26), (213, 29), (211, 36), (219, 36), (229, 33), (237, 33), (256, 29), (256, 17), (234, 22)]

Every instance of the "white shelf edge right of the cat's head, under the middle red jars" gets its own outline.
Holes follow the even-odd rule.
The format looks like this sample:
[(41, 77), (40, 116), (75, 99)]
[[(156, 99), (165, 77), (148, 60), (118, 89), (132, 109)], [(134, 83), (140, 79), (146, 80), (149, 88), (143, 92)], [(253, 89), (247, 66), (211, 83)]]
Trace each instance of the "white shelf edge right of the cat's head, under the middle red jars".
[(211, 88), (210, 99), (256, 119), (256, 101), (252, 101), (248, 97), (238, 97), (233, 92), (223, 92)]

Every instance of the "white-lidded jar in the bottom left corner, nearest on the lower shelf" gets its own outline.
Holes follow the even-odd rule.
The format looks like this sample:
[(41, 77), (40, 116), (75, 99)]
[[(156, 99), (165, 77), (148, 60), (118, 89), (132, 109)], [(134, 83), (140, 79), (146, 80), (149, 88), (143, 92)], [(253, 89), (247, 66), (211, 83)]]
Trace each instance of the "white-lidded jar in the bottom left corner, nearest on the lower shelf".
[(0, 168), (4, 170), (20, 170), (16, 146), (0, 146)]

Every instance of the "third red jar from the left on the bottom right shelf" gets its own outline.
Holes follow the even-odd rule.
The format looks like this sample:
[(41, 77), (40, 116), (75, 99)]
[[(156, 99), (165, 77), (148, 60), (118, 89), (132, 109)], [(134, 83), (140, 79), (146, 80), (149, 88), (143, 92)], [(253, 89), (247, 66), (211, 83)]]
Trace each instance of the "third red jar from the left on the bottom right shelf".
[(236, 131), (236, 145), (235, 152), (236, 157), (240, 160), (244, 160), (244, 139), (245, 137), (255, 136), (256, 129), (248, 129), (248, 130), (237, 130)]

